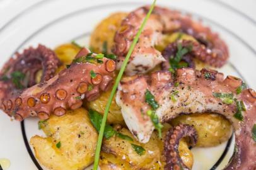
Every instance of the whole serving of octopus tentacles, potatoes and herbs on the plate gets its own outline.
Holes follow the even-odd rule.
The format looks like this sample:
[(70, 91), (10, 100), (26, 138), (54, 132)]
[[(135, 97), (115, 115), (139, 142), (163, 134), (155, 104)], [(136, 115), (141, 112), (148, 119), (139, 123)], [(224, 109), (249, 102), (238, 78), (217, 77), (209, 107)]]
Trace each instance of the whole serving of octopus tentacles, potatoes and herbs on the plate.
[(192, 147), (233, 134), (224, 169), (256, 169), (256, 93), (217, 71), (232, 57), (218, 33), (161, 6), (106, 17), (90, 47), (39, 44), (0, 71), (1, 110), (20, 122), (35, 117), (45, 133), (30, 139), (38, 162), (53, 170), (93, 162), (102, 170), (192, 169)]

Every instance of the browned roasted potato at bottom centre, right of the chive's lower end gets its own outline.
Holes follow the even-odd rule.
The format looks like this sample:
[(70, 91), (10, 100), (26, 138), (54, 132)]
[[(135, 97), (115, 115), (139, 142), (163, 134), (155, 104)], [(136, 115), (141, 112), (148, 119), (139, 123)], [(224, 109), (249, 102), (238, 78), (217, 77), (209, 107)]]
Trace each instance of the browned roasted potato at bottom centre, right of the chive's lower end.
[[(163, 130), (163, 136), (165, 136), (166, 130)], [(131, 132), (126, 128), (122, 128), (120, 133), (132, 137)], [(162, 155), (162, 140), (164, 138), (162, 140), (159, 139), (157, 133), (154, 132), (147, 144), (140, 144), (133, 137), (132, 139), (134, 140), (133, 142), (120, 139), (119, 137), (104, 140), (102, 159), (100, 160), (101, 169), (107, 170), (111, 169), (111, 167), (115, 167), (115, 169), (163, 169), (165, 162)], [(132, 144), (143, 147), (145, 149), (144, 154), (141, 156), (137, 154)], [(186, 166), (192, 167), (193, 157), (187, 143), (182, 141), (178, 150)]]

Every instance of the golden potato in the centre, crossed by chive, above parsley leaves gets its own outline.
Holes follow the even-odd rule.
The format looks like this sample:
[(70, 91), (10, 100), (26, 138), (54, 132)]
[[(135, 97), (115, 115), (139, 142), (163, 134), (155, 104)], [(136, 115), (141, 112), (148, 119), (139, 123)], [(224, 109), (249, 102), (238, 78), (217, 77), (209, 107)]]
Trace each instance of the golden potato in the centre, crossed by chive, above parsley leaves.
[[(88, 108), (91, 108), (92, 110), (98, 111), (98, 113), (103, 115), (107, 105), (108, 98), (110, 97), (110, 93), (111, 91), (103, 92), (100, 95), (100, 98), (94, 101), (86, 102), (86, 106)], [(115, 102), (115, 96), (112, 100), (112, 104), (108, 111), (107, 122), (110, 124), (115, 123), (124, 125), (124, 118), (122, 117), (121, 108)]]

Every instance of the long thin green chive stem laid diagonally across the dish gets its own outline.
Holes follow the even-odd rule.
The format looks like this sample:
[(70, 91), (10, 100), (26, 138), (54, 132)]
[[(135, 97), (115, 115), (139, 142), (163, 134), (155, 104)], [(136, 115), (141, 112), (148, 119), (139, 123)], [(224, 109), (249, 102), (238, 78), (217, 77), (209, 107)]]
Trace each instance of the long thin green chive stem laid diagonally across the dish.
[(125, 67), (126, 67), (128, 61), (129, 61), (130, 57), (131, 57), (132, 51), (134, 50), (134, 47), (135, 47), (137, 41), (139, 40), (139, 36), (141, 35), (141, 33), (143, 31), (143, 28), (146, 25), (146, 22), (148, 21), (148, 18), (151, 15), (151, 13), (152, 13), (152, 11), (154, 9), (154, 5), (155, 4), (156, 4), (156, 0), (153, 1), (153, 4), (151, 5), (151, 8), (148, 11), (148, 14), (144, 18), (143, 23), (141, 25), (141, 28), (139, 28), (139, 31), (137, 32), (136, 37), (134, 38), (134, 40), (132, 42), (132, 45), (129, 48), (129, 51), (128, 51), (125, 59), (124, 59), (124, 62), (123, 62), (122, 67), (121, 67), (121, 69), (119, 71), (119, 74), (117, 75), (117, 79), (115, 79), (115, 84), (113, 84), (113, 89), (112, 89), (112, 91), (110, 93), (110, 98), (108, 98), (107, 106), (106, 106), (106, 109), (104, 111), (104, 115), (103, 115), (103, 119), (102, 119), (102, 125), (100, 127), (100, 133), (98, 135), (98, 142), (97, 142), (97, 145), (96, 145), (95, 160), (94, 160), (94, 164), (93, 164), (93, 170), (97, 170), (98, 169), (98, 162), (99, 162), (99, 159), (100, 159), (100, 150), (101, 150), (101, 147), (102, 147), (103, 132), (105, 130), (105, 125), (106, 125), (106, 121), (107, 121), (108, 111), (109, 111), (110, 105), (112, 103), (113, 96), (115, 95), (115, 92), (117, 91), (117, 86), (118, 86), (118, 84), (120, 82), (120, 79), (122, 78), (122, 75), (123, 75), (123, 73), (125, 71)]

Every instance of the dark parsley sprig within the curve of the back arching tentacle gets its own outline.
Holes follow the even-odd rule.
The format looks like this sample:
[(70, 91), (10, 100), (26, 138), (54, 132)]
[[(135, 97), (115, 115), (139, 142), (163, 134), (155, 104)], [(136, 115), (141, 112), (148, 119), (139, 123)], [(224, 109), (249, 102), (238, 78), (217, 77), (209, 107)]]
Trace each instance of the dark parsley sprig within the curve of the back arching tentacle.
[(188, 47), (182, 47), (182, 43), (178, 43), (177, 45), (177, 53), (175, 57), (171, 56), (169, 62), (170, 62), (170, 72), (175, 72), (176, 69), (182, 68), (182, 67), (187, 67), (188, 64), (185, 62), (180, 63), (182, 60), (183, 55), (187, 54), (192, 50), (192, 45), (188, 45)]

